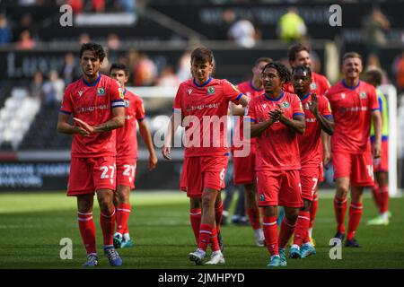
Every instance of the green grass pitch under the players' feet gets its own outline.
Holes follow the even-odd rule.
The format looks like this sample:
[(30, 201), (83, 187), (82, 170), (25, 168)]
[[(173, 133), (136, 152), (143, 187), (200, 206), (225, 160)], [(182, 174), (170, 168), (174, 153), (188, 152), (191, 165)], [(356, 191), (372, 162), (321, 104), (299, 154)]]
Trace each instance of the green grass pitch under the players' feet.
[[(320, 192), (321, 194), (321, 192)], [(328, 195), (328, 196), (327, 196)], [(404, 198), (392, 198), (389, 226), (366, 226), (376, 214), (373, 201), (364, 198), (364, 215), (356, 238), (363, 248), (342, 248), (342, 259), (329, 258), (329, 239), (335, 233), (331, 194), (320, 197), (314, 227), (317, 255), (288, 259), (285, 268), (403, 268)], [(131, 195), (129, 228), (134, 248), (120, 249), (122, 268), (195, 269), (266, 268), (266, 248), (255, 246), (250, 226), (222, 228), (226, 263), (195, 266), (188, 254), (196, 244), (189, 224), (189, 201), (180, 192), (136, 192)], [(94, 208), (100, 267), (110, 268), (101, 254), (100, 210)], [(77, 226), (75, 197), (59, 193), (0, 194), (0, 268), (81, 268), (85, 261)], [(60, 239), (73, 240), (73, 259), (60, 258)]]

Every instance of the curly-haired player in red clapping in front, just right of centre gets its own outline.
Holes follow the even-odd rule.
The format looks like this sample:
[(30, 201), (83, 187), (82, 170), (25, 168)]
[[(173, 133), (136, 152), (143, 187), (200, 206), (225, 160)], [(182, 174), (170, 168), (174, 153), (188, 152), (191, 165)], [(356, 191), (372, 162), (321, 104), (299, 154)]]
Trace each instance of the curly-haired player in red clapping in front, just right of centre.
[[(302, 102), (283, 91), (291, 74), (285, 65), (264, 67), (265, 93), (250, 101), (251, 137), (257, 137), (257, 196), (264, 209), (263, 230), (270, 260), (268, 267), (286, 265), (285, 245), (294, 232), (303, 206), (297, 135), (305, 129)], [(285, 207), (285, 219), (277, 234), (277, 205)]]

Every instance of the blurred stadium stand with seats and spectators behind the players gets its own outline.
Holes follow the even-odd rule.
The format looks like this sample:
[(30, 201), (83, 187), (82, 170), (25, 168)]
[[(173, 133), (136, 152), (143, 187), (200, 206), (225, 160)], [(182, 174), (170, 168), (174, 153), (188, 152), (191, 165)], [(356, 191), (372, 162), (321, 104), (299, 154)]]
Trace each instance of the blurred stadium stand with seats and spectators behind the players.
[[(89, 39), (100, 42), (108, 50), (107, 61), (102, 66), (103, 73), (108, 73), (111, 62), (129, 66), (129, 88), (136, 83), (148, 87), (157, 86), (162, 83), (162, 72), (170, 69), (171, 80), (173, 79), (171, 83), (176, 83), (179, 79), (183, 81), (183, 72), (187, 76), (189, 67), (181, 65), (181, 59), (188, 63), (187, 51), (198, 44), (204, 44), (215, 51), (215, 76), (226, 78), (232, 83), (240, 83), (250, 77), (250, 64), (258, 57), (268, 56), (287, 62), (285, 51), (290, 43), (279, 40), (277, 36), (277, 21), (290, 6), (283, 1), (197, 0), (190, 4), (185, 0), (173, 0), (168, 4), (161, 0), (145, 0), (136, 1), (134, 7), (122, 5), (119, 0), (104, 1), (105, 5), (102, 7), (94, 7), (92, 1), (81, 2), (83, 5), (75, 7), (74, 15), (81, 15), (84, 22), (74, 21), (73, 27), (61, 27), (59, 20), (62, 13), (59, 8), (67, 1), (41, 0), (32, 1), (34, 4), (29, 5), (11, 0), (0, 1), (0, 14), (7, 19), (8, 28), (13, 34), (11, 43), (0, 43), (0, 109), (10, 105), (8, 102), (16, 91), (29, 91), (37, 71), (43, 74), (44, 83), (51, 70), (56, 70), (66, 85), (75, 81), (79, 75), (77, 51), (80, 43)], [(326, 74), (331, 83), (338, 80), (340, 55), (348, 50), (361, 53), (364, 56), (364, 65), (368, 65), (369, 52), (364, 42), (362, 25), (376, 3), (379, 2), (340, 3), (344, 11), (342, 27), (329, 26), (329, 6), (334, 4), (333, 1), (294, 3), (307, 26), (306, 43), (311, 46), (312, 55), (318, 63), (315, 70)], [(404, 49), (402, 9), (399, 2), (392, 0), (381, 1), (379, 5), (391, 22), (391, 27), (384, 30), (388, 44), (381, 48), (378, 65), (386, 72), (388, 83), (395, 83), (395, 71), (391, 66)], [(245, 18), (254, 24), (258, 35), (253, 48), (236, 47), (233, 40), (228, 39), (230, 22), (225, 18), (227, 11), (233, 11), (236, 19)], [(357, 11), (362, 11), (360, 16)], [(133, 21), (121, 22), (119, 25), (90, 25), (85, 20), (85, 15), (98, 15), (100, 19), (119, 14), (134, 15), (133, 18), (127, 18)], [(32, 48), (17, 48), (23, 30), (30, 31), (34, 42)], [(142, 72), (153, 74), (152, 79), (139, 80)], [(148, 90), (150, 94), (139, 93), (145, 100), (152, 135), (162, 125), (162, 119), (171, 114), (175, 89), (176, 87), (173, 88), (171, 98), (151, 96), (153, 89)], [(71, 137), (57, 134), (56, 131), (57, 102), (45, 104), (38, 100), (32, 101), (28, 94), (23, 99), (27, 103), (31, 102), (35, 109), (29, 110), (31, 116), (24, 116), (24, 126), (7, 119), (10, 115), (15, 117), (15, 111), (3, 112), (2, 115), (7, 117), (0, 118), (0, 152), (67, 151)], [(404, 101), (400, 95), (398, 104), (398, 119), (402, 123)], [(19, 109), (21, 107), (22, 102), (18, 105)], [(32, 117), (31, 120), (27, 120), (28, 117)], [(400, 130), (402, 129), (399, 129), (399, 133)], [(404, 142), (403, 135), (400, 133), (399, 143)], [(140, 139), (138, 143), (142, 153), (144, 143)], [(400, 158), (404, 157), (402, 149), (399, 145)]]

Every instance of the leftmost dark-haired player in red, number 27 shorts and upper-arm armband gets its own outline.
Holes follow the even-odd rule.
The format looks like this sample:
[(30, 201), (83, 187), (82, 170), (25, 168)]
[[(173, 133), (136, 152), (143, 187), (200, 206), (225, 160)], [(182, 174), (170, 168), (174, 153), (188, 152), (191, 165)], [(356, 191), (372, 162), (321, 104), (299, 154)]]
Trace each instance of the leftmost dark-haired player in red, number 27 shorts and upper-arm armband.
[[(110, 265), (122, 265), (113, 246), (115, 230), (116, 134), (124, 126), (125, 103), (116, 80), (100, 73), (105, 57), (101, 45), (83, 44), (80, 65), (83, 77), (67, 86), (57, 120), (57, 132), (73, 135), (67, 196), (77, 197), (78, 224), (87, 251), (84, 266), (99, 264), (92, 220), (94, 193), (101, 209), (104, 253)], [(75, 125), (69, 124), (73, 116)]]

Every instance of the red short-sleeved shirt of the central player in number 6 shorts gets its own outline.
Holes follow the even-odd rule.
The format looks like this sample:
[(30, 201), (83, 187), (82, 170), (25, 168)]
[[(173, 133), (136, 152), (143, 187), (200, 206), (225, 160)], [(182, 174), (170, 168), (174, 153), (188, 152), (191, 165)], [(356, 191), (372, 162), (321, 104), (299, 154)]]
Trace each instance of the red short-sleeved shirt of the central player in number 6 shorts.
[(232, 83), (209, 77), (198, 85), (194, 79), (180, 83), (174, 113), (184, 117), (185, 156), (227, 155), (227, 114), (229, 102), (242, 97)]

